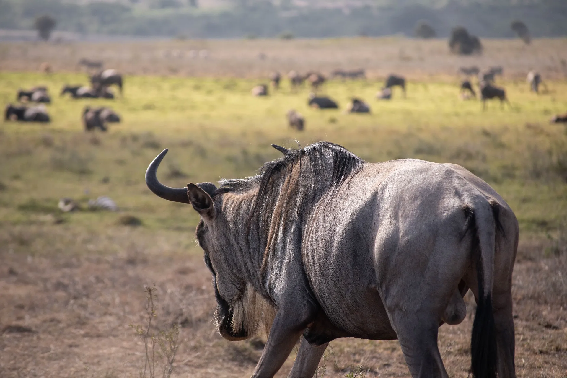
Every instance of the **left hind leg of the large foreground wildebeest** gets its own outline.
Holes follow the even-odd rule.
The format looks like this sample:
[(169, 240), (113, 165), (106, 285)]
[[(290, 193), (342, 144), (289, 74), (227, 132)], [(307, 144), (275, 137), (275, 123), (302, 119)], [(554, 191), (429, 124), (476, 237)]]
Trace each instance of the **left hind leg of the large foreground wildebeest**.
[(437, 347), (439, 321), (426, 311), (396, 311), (392, 325), (413, 378), (448, 378)]

